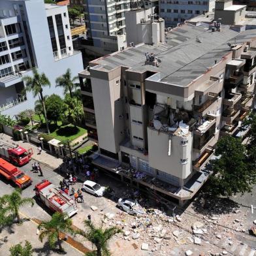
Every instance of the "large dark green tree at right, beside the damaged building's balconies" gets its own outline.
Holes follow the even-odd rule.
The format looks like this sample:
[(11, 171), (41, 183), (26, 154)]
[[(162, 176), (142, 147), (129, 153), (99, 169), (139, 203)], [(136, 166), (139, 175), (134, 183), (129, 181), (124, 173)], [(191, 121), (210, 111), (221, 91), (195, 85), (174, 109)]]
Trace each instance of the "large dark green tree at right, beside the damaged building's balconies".
[(231, 197), (251, 191), (255, 177), (251, 176), (241, 140), (232, 136), (221, 138), (215, 155), (217, 158), (211, 162), (214, 175), (210, 177), (210, 193)]

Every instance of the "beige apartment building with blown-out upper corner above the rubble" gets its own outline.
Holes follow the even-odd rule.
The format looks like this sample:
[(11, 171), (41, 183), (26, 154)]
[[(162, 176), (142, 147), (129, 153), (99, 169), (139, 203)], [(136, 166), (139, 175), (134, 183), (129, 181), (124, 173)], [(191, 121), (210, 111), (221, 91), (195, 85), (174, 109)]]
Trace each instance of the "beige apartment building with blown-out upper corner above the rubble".
[[(185, 24), (95, 59), (79, 73), (93, 163), (183, 204), (206, 182), (220, 136), (253, 108), (256, 29)], [(155, 32), (154, 32), (155, 29)]]

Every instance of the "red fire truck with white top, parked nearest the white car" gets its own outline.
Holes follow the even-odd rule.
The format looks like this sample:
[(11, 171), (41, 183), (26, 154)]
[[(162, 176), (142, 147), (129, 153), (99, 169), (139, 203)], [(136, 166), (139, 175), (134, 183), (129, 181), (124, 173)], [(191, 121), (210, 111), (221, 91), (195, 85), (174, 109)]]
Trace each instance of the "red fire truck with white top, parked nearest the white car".
[(54, 212), (66, 213), (69, 217), (77, 212), (76, 202), (48, 180), (35, 185), (35, 195)]

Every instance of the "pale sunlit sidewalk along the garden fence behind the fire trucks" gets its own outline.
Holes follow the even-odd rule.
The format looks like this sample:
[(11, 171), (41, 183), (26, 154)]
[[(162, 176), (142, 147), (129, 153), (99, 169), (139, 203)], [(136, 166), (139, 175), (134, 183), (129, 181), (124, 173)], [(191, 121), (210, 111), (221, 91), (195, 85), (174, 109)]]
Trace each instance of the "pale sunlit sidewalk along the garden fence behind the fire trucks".
[(23, 142), (22, 140), (15, 141), (12, 139), (11, 136), (6, 135), (5, 133), (0, 133), (0, 141), (1, 140), (3, 140), (4, 142), (8, 142), (8, 143), (16, 143), (19, 146), (22, 146), (22, 148), (25, 148), (26, 150), (28, 150), (29, 148), (32, 148), (32, 150), (33, 150), (32, 159), (34, 159), (35, 161), (39, 161), (40, 163), (43, 163), (44, 165), (48, 165), (51, 168), (56, 169), (59, 167), (59, 165), (61, 165), (61, 163), (63, 163), (61, 158), (56, 158), (44, 150), (42, 150), (40, 155), (38, 155), (39, 151), (37, 150), (37, 146), (35, 146), (34, 144)]

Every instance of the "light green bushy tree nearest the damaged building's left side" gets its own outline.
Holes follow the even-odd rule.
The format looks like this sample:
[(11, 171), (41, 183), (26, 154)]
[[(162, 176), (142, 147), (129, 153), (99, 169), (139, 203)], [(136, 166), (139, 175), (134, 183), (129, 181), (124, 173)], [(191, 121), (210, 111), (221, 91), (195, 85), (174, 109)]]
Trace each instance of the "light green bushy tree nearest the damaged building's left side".
[(77, 123), (84, 118), (84, 108), (82, 101), (71, 98), (70, 95), (66, 95), (63, 104), (63, 119), (67, 123), (72, 123), (76, 126)]

